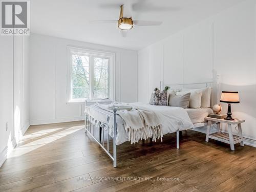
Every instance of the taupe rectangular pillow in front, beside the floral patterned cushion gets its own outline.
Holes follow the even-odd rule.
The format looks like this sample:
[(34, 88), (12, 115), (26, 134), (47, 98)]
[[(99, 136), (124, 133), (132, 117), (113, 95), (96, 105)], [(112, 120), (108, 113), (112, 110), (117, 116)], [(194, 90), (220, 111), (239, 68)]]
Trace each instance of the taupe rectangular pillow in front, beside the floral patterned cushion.
[(169, 94), (169, 106), (179, 106), (180, 108), (187, 109), (190, 99), (190, 93), (184, 95)]

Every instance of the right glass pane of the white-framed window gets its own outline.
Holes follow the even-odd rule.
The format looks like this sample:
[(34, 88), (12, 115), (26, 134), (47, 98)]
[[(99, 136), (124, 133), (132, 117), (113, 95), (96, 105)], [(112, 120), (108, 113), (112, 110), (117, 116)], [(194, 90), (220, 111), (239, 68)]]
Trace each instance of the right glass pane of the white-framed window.
[(109, 98), (109, 59), (94, 57), (94, 99)]

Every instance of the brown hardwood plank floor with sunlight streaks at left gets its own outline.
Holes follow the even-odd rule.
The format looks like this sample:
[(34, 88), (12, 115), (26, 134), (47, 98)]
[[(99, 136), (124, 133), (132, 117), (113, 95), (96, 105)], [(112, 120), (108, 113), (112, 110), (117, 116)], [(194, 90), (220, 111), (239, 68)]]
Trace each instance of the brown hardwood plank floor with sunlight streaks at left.
[[(0, 168), (0, 191), (255, 191), (256, 148), (183, 131), (117, 147), (117, 168), (83, 121), (30, 126)], [(106, 138), (106, 136), (105, 136)], [(137, 179), (137, 180), (135, 180)]]

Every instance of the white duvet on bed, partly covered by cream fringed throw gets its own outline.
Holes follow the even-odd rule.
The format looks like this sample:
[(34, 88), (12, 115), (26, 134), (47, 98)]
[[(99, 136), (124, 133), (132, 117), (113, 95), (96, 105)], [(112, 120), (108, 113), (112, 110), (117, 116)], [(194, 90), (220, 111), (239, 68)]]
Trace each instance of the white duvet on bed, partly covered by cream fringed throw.
[[(156, 113), (158, 118), (161, 120), (162, 123), (162, 131), (163, 135), (168, 133), (174, 133), (177, 130), (187, 130), (193, 128), (193, 123), (191, 122), (186, 110), (183, 108), (178, 108), (174, 106), (156, 106), (151, 104), (145, 103), (130, 103), (132, 106), (142, 106), (146, 107)], [(106, 123), (106, 115), (101, 114), (96, 110), (99, 108), (95, 105), (91, 105), (87, 113), (91, 115), (94, 119), (98, 121)], [(103, 111), (106, 114), (111, 114), (108, 111)], [(109, 134), (113, 137), (113, 119), (111, 118), (109, 121), (110, 131)], [(117, 115), (117, 137), (116, 137), (116, 144), (119, 145), (128, 141), (129, 135), (125, 131), (123, 126), (122, 118)], [(164, 139), (164, 137), (163, 137)]]

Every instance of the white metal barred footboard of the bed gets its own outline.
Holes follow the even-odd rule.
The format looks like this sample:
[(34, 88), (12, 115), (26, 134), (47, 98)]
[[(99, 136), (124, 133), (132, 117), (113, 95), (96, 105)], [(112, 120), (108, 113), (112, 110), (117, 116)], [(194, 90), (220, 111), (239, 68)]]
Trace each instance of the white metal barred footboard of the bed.
[[(88, 106), (86, 106), (88, 108)], [(94, 109), (95, 110), (95, 109)], [(103, 150), (110, 156), (110, 158), (113, 160), (113, 166), (117, 167), (117, 153), (116, 153), (116, 134), (117, 134), (117, 124), (116, 124), (116, 112), (117, 108), (113, 109), (113, 113), (107, 114), (100, 110), (96, 110), (99, 113), (103, 113), (106, 116), (106, 123), (100, 122), (97, 119), (94, 119), (90, 114), (88, 114), (87, 110), (85, 112), (85, 127), (84, 132), (91, 135), (91, 137), (103, 148)], [(110, 153), (110, 140), (109, 140), (109, 121), (110, 119), (113, 119), (113, 125), (114, 125), (114, 137), (113, 137), (113, 155)], [(106, 129), (104, 129), (106, 128)], [(106, 146), (104, 144), (104, 132), (106, 132), (106, 135), (108, 136), (106, 139)], [(98, 137), (97, 137), (98, 134)]]

